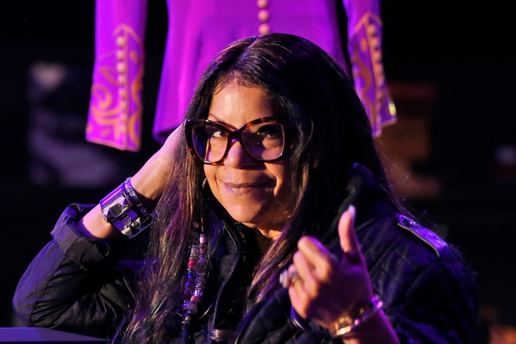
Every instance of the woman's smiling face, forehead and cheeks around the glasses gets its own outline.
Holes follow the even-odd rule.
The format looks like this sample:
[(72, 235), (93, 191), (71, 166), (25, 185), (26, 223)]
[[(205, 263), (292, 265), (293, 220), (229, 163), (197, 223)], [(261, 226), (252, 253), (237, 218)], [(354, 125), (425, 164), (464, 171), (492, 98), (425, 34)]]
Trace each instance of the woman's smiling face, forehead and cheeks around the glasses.
[[(209, 120), (236, 130), (261, 117), (272, 116), (265, 91), (241, 86), (236, 80), (218, 89), (209, 109)], [(212, 193), (238, 222), (266, 234), (284, 225), (292, 210), (288, 161), (254, 160), (235, 142), (220, 165), (204, 165)], [(269, 233), (272, 234), (272, 233)]]

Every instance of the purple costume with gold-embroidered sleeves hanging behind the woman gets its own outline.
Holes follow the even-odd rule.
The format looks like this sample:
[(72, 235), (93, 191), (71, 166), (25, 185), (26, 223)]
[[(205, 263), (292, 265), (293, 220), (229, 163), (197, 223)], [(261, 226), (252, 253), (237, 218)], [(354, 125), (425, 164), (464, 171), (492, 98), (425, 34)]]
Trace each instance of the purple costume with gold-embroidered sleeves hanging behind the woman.
[[(378, 0), (343, 0), (347, 48), (373, 133), (396, 114), (381, 61)], [(335, 0), (167, 0), (169, 25), (153, 136), (163, 143), (181, 124), (208, 62), (229, 43), (269, 32), (307, 38), (345, 66)], [(147, 0), (97, 0), (95, 64), (86, 138), (137, 151), (141, 135)]]

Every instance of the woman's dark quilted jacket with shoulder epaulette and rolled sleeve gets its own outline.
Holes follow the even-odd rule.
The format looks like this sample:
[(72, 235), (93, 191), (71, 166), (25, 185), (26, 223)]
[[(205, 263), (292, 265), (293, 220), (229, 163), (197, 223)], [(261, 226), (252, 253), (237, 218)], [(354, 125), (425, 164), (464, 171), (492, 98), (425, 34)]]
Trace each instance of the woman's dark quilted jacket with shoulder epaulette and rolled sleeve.
[[(396, 213), (367, 169), (357, 166), (351, 171), (348, 190), (341, 212), (350, 204), (357, 208), (356, 231), (373, 288), (400, 342), (478, 342), (476, 287), (454, 249)], [(142, 263), (124, 260), (116, 244), (89, 241), (77, 230), (76, 219), (89, 209), (72, 205), (65, 210), (52, 231), (53, 240), (21, 278), (13, 306), (27, 326), (109, 336), (132, 304)], [(207, 292), (215, 306), (201, 318), (196, 341), (341, 342), (313, 323), (293, 321), (297, 318), (286, 289), (245, 315), (235, 312), (243, 304), (238, 290), (248, 282), (249, 269), (245, 243), (232, 224), (224, 225), (226, 240), (214, 264), (218, 274), (212, 274), (216, 280), (212, 293)], [(324, 243), (342, 255), (336, 229)]]

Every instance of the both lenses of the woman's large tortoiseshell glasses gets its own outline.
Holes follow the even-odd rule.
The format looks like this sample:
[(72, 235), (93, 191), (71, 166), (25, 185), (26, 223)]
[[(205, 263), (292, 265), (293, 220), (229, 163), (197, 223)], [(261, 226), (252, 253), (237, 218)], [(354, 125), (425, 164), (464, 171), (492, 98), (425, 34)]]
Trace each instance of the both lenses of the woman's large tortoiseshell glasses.
[[(231, 145), (230, 131), (212, 124), (197, 125), (193, 127), (192, 134), (197, 154), (204, 161), (222, 160)], [(281, 157), (284, 137), (280, 123), (259, 123), (242, 131), (240, 142), (254, 159), (269, 161)]]

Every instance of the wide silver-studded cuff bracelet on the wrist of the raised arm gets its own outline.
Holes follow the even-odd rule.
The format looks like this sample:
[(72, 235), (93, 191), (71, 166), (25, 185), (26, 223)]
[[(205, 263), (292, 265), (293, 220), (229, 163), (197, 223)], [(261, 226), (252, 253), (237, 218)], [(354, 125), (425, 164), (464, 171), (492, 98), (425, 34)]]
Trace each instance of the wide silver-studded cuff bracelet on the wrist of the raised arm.
[(152, 223), (151, 213), (136, 195), (131, 178), (102, 198), (100, 207), (106, 222), (128, 238), (133, 238)]

